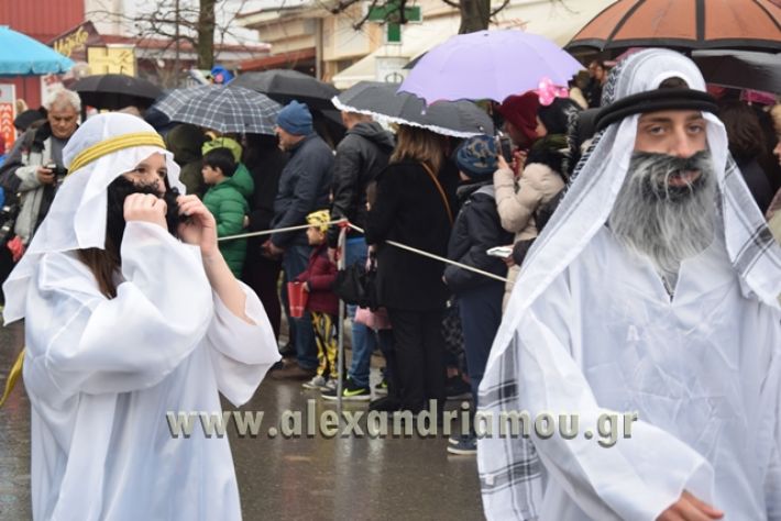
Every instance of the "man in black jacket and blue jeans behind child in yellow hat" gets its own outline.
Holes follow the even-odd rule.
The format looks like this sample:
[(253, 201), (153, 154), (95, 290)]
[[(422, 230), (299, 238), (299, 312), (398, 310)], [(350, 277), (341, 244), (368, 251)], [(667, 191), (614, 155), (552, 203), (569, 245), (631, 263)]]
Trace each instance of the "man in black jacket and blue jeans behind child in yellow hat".
[[(342, 111), (342, 122), (348, 129), (346, 135), (337, 146), (333, 165), (333, 203), (332, 219), (348, 219), (360, 228), (366, 225), (366, 186), (388, 164), (393, 152), (393, 137), (380, 123), (367, 115)], [(332, 226), (328, 233), (329, 256), (336, 258), (339, 228)], [(363, 235), (351, 231), (346, 241), (346, 265), (366, 263), (366, 241)], [(348, 306), (351, 319), (355, 317), (355, 307)], [(348, 372), (348, 383), (342, 389), (345, 400), (367, 400), (369, 367), (375, 346), (374, 333), (364, 324), (353, 321), (352, 325), (352, 364)], [(336, 389), (323, 392), (323, 398), (337, 398)]]

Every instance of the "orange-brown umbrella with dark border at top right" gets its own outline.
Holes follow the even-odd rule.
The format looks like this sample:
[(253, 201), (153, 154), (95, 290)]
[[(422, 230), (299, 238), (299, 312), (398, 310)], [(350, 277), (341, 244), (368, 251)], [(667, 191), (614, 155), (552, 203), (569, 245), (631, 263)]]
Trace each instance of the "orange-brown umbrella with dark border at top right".
[(778, 52), (780, 46), (780, 0), (618, 0), (575, 34), (566, 48)]

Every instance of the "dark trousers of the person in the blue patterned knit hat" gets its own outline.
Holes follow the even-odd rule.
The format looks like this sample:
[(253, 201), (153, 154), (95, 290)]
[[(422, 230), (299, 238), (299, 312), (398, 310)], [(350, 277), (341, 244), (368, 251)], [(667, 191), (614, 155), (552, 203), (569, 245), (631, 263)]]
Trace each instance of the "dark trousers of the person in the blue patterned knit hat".
[(491, 345), (502, 322), (503, 282), (486, 282), (458, 295), (461, 328), (464, 332), (466, 370), (472, 385), (475, 409), (477, 388), (488, 363)]

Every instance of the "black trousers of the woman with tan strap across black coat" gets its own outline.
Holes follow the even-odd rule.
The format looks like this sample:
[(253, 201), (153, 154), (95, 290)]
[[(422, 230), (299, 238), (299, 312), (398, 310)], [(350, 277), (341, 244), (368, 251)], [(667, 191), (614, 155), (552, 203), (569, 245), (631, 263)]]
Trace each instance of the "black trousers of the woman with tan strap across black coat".
[(444, 339), (442, 311), (388, 309), (393, 324), (402, 408), (415, 413), (428, 400), (444, 404)]

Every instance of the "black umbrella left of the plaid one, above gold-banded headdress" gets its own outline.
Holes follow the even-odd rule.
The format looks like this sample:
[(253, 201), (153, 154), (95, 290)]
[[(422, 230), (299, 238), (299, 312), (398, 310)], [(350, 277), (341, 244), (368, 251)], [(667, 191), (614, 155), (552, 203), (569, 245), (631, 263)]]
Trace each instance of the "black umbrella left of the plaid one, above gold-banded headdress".
[(119, 110), (129, 106), (147, 108), (163, 90), (145, 79), (121, 74), (87, 76), (72, 87), (81, 101), (96, 109)]

